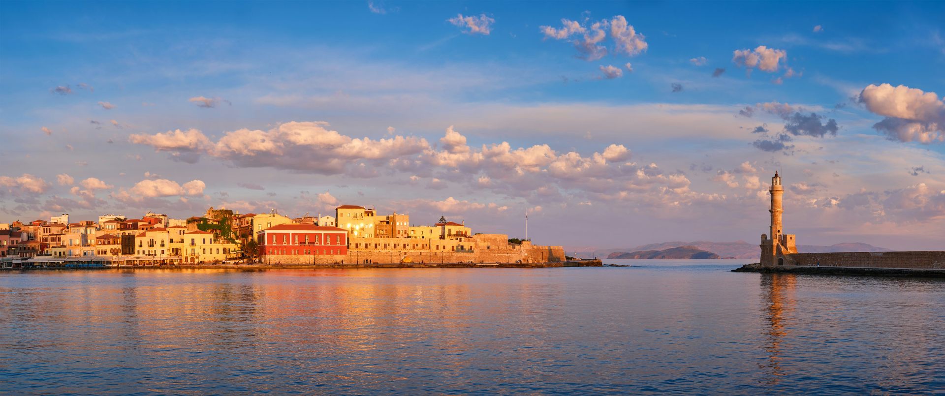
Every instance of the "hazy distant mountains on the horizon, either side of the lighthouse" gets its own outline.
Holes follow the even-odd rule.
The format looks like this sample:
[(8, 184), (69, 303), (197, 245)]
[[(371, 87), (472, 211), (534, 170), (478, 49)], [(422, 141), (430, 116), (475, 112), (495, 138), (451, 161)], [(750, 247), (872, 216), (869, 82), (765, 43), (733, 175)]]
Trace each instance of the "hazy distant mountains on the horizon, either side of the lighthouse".
[[(733, 259), (757, 259), (762, 254), (761, 248), (758, 247), (758, 244), (749, 244), (745, 241), (735, 241), (735, 242), (709, 242), (709, 241), (696, 241), (696, 242), (663, 242), (658, 244), (648, 244), (638, 246), (636, 248), (624, 248), (624, 249), (605, 249), (605, 250), (593, 250), (593, 251), (578, 251), (578, 256), (581, 257), (608, 257), (610, 253), (613, 252), (636, 252), (636, 251), (645, 251), (645, 250), (667, 250), (679, 247), (691, 247), (697, 250), (705, 250), (713, 252), (719, 255), (722, 258), (733, 258)], [(865, 243), (858, 242), (847, 242), (839, 243), (831, 246), (819, 246), (819, 245), (799, 245), (798, 251), (801, 253), (826, 253), (826, 252), (837, 252), (837, 251), (892, 251), (885, 248), (878, 248)]]

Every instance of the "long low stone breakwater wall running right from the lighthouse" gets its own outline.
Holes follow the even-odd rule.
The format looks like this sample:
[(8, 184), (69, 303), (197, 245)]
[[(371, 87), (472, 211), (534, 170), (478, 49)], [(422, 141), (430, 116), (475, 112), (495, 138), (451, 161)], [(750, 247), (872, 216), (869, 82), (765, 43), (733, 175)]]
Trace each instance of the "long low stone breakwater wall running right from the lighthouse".
[(847, 253), (794, 253), (785, 266), (869, 268), (945, 268), (945, 251), (865, 251)]

